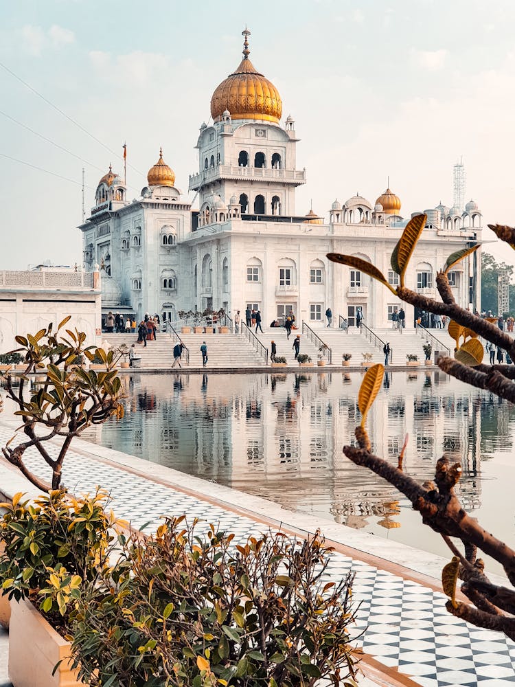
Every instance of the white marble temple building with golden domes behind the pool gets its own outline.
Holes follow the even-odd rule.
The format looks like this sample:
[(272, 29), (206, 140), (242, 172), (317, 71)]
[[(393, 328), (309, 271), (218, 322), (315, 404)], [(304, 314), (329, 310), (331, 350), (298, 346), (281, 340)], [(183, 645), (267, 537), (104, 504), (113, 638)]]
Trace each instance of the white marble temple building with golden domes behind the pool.
[[(407, 223), (400, 199), (387, 189), (375, 203), (360, 195), (336, 200), (328, 222), (312, 210), (297, 214), (295, 190), (306, 183), (306, 170), (297, 167), (295, 121), (288, 116), (281, 124), (279, 94), (254, 69), (244, 34), (243, 60), (215, 90), (213, 122), (200, 129), (199, 170), (189, 179), (192, 203), (181, 199), (162, 151), (137, 200), (126, 200), (124, 181), (111, 168), (102, 177), (91, 216), (80, 226), (84, 267), (103, 263), (113, 281), (102, 311), (137, 318), (159, 313), (174, 321), (181, 310), (225, 308), (233, 315), (251, 306), (262, 311), (265, 324), (293, 310), (297, 319), (321, 326), (330, 307), (337, 326), (339, 315), (354, 324), (361, 308), (369, 326), (384, 327), (400, 308), (398, 299), (325, 255), (359, 256), (396, 284), (389, 258)], [(473, 201), (463, 209), (440, 204), (424, 212), (428, 221), (407, 286), (436, 295), (435, 277), (446, 258), (481, 240), (481, 212)], [(479, 307), (479, 253), (450, 275), (465, 307)], [(405, 309), (409, 325), (415, 313)]]

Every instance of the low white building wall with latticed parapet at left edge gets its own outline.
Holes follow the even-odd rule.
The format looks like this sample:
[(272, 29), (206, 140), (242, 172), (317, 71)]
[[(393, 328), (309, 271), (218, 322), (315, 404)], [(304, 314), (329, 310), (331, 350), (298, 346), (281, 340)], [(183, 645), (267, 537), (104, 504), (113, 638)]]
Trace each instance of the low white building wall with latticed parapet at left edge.
[(16, 348), (16, 335), (34, 334), (67, 315), (67, 329), (86, 334), (87, 345), (101, 341), (102, 309), (98, 273), (0, 271), (0, 353)]

